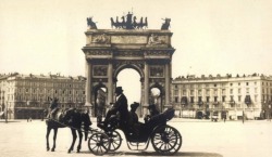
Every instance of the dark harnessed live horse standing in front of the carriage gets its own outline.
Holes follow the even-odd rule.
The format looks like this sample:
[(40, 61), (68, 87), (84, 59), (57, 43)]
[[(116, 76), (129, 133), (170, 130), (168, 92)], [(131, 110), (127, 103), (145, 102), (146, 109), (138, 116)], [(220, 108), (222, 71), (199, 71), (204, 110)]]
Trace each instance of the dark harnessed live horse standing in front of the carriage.
[[(76, 110), (75, 108), (70, 108), (70, 109), (65, 109), (65, 110), (59, 109), (57, 112), (57, 115), (53, 117), (53, 119), (49, 118), (48, 120), (46, 120), (46, 123), (47, 123), (47, 134), (46, 134), (47, 151), (50, 149), (50, 146), (49, 146), (50, 131), (52, 129), (54, 131), (53, 146), (51, 148), (51, 152), (54, 152), (58, 129), (69, 127), (72, 131), (73, 141), (72, 141), (72, 144), (71, 144), (67, 153), (71, 153), (74, 149), (75, 140), (77, 138), (76, 131), (77, 131), (78, 136), (79, 136), (79, 141), (78, 141), (78, 145), (77, 145), (77, 153), (79, 153), (81, 148), (82, 148), (83, 132), (85, 133), (85, 141), (86, 141), (88, 138), (88, 130), (89, 130), (89, 126), (91, 125), (91, 121), (90, 121), (88, 113), (81, 113), (81, 112)], [(82, 125), (84, 127), (83, 128), (84, 131), (82, 131)]]

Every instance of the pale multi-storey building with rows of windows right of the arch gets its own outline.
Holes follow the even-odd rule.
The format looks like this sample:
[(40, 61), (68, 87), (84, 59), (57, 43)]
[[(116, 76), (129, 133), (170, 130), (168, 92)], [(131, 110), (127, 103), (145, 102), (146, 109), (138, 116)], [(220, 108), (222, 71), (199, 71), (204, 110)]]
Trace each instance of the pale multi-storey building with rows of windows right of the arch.
[(180, 117), (247, 119), (271, 116), (272, 77), (248, 76), (187, 76), (172, 81), (172, 102)]

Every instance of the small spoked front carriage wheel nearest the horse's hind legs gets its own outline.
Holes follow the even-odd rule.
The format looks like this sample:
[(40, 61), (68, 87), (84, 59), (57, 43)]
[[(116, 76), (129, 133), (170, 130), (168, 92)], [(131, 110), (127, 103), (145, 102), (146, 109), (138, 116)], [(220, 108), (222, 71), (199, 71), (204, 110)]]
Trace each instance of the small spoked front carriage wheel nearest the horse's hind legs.
[(94, 133), (88, 140), (89, 151), (95, 155), (103, 155), (110, 148), (109, 136), (104, 133)]

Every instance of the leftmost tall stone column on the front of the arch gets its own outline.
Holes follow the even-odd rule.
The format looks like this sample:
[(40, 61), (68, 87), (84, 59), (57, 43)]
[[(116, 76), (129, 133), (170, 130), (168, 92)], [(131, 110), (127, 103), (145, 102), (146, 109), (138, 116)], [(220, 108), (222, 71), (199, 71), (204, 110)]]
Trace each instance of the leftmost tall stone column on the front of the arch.
[(86, 77), (87, 77), (87, 81), (86, 81), (86, 106), (91, 106), (91, 63), (89, 63), (88, 61), (86, 61)]

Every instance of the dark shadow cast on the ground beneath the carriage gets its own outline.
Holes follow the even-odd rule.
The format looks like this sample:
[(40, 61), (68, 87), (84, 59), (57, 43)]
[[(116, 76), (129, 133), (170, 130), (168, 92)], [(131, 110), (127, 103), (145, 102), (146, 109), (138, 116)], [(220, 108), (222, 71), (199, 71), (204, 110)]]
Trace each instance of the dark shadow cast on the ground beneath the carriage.
[[(90, 152), (82, 152), (83, 154), (91, 154)], [(107, 153), (108, 156), (163, 156), (156, 152), (110, 152)], [(180, 157), (223, 157), (221, 154), (217, 153), (206, 153), (206, 152), (178, 152), (172, 156)]]

